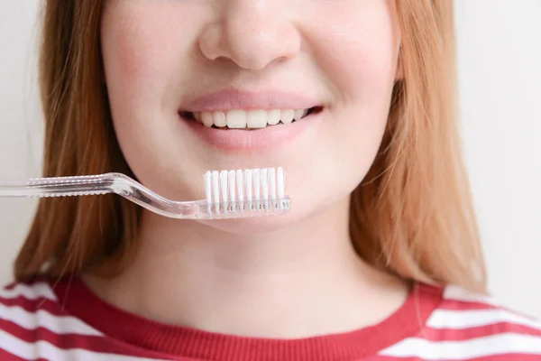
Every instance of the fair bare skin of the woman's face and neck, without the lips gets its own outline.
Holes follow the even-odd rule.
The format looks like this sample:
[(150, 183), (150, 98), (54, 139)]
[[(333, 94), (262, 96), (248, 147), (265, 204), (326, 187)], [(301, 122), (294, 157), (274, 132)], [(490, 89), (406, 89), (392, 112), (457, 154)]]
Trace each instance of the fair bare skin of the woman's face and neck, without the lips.
[[(105, 79), (137, 178), (201, 199), (207, 170), (282, 166), (295, 207), (207, 222), (145, 212), (134, 263), (115, 279), (87, 275), (89, 286), (144, 317), (243, 336), (303, 338), (387, 318), (408, 289), (354, 253), (349, 195), (381, 143), (399, 39), (387, 0), (109, 0)], [(325, 110), (280, 148), (225, 153), (177, 114), (225, 87), (292, 91)]]

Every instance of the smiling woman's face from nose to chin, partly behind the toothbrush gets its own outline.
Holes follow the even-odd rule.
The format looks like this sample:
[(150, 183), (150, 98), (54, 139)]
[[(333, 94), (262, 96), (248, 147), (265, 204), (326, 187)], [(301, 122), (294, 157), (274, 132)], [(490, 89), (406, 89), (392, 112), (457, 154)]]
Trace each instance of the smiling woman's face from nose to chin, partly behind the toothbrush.
[(292, 210), (250, 220), (269, 227), (344, 200), (384, 133), (399, 54), (393, 4), (106, 1), (105, 79), (133, 173), (194, 200), (205, 198), (205, 171), (283, 167)]

